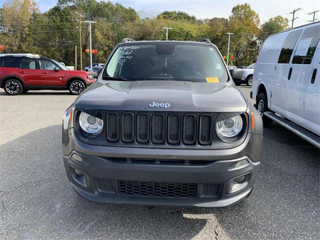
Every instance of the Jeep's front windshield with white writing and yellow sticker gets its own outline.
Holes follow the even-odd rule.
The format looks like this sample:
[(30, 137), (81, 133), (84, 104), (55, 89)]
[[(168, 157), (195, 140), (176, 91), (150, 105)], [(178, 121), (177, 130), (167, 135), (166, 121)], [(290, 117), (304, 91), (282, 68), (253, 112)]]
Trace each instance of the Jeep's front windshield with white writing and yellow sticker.
[(172, 42), (120, 46), (102, 75), (129, 80), (228, 80), (223, 61), (213, 46)]

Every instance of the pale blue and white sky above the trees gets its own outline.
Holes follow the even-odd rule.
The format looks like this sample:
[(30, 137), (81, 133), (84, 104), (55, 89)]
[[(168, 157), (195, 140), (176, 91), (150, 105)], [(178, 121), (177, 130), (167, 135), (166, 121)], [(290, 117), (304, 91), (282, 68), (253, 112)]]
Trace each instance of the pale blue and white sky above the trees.
[[(1, 6), (3, 2), (5, 0), (0, 0)], [(41, 11), (46, 11), (54, 6), (57, 0), (35, 0), (35, 2)], [(295, 26), (307, 23), (307, 20), (312, 19), (312, 15), (307, 13), (320, 9), (320, 0), (111, 0), (111, 2), (154, 14), (164, 10), (181, 10), (197, 18), (228, 17), (232, 6), (247, 2), (259, 14), (261, 23), (276, 15), (291, 19), (292, 15), (288, 13), (294, 8), (301, 7), (302, 10), (296, 12), (299, 18), (294, 21)], [(320, 12), (316, 13), (316, 17), (320, 19)]]

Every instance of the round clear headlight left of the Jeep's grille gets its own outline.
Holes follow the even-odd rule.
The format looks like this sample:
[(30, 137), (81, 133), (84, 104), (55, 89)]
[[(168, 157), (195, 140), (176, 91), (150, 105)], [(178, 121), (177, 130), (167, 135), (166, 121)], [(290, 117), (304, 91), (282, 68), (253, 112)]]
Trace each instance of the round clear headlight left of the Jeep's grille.
[(100, 134), (103, 128), (102, 119), (87, 114), (83, 111), (79, 115), (79, 124), (82, 130), (94, 136)]

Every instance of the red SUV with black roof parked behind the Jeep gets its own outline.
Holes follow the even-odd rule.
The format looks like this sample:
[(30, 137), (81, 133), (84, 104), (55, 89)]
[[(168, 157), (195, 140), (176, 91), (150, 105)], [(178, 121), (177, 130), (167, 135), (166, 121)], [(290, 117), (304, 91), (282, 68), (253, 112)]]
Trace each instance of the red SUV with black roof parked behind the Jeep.
[(9, 95), (43, 89), (69, 90), (72, 94), (80, 94), (94, 81), (90, 72), (71, 71), (46, 57), (0, 57), (0, 87)]

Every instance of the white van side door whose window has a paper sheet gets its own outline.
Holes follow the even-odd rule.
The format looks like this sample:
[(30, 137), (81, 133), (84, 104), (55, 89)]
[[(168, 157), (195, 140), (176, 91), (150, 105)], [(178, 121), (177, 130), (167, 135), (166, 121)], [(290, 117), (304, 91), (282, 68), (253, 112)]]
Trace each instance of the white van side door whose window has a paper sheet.
[[(295, 44), (293, 57), (289, 64), (288, 77), (286, 80), (287, 95), (287, 117), (299, 124), (311, 127), (312, 122), (318, 124), (319, 111), (315, 112), (315, 108), (319, 106), (319, 86), (318, 82), (311, 83), (312, 74), (318, 68), (319, 51), (315, 54), (316, 46), (320, 38), (320, 24), (312, 24), (305, 27), (300, 38)], [(314, 89), (317, 88), (317, 89)], [(306, 95), (308, 95), (308, 103), (306, 106)], [(317, 93), (316, 93), (317, 91)], [(316, 100), (317, 101), (313, 101)], [(314, 105), (310, 105), (314, 102)], [(317, 102), (317, 103), (316, 103)], [(309, 122), (311, 121), (311, 122)], [(307, 125), (306, 123), (309, 122)], [(313, 128), (313, 127), (312, 127)]]

